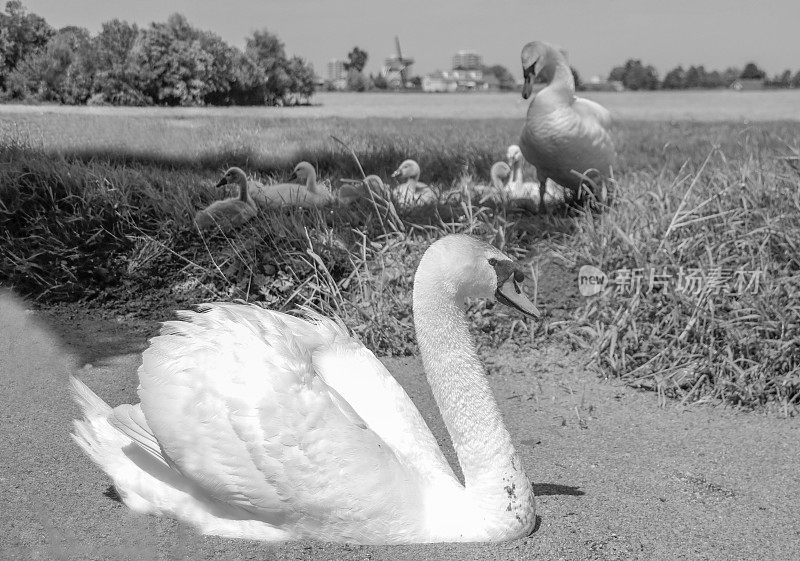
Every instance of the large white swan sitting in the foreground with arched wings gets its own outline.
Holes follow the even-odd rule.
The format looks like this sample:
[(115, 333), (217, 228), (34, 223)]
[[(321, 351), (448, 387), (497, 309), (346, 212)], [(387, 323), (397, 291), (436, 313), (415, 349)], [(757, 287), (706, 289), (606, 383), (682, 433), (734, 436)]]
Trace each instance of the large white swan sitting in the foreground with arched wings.
[(151, 340), (136, 405), (72, 378), (73, 438), (139, 512), (206, 534), (358, 543), (500, 541), (534, 527), (531, 484), (475, 350), (465, 299), (538, 310), (494, 247), (432, 244), (414, 279), (425, 372), (461, 485), (413, 402), (339, 320), (255, 305), (182, 312)]

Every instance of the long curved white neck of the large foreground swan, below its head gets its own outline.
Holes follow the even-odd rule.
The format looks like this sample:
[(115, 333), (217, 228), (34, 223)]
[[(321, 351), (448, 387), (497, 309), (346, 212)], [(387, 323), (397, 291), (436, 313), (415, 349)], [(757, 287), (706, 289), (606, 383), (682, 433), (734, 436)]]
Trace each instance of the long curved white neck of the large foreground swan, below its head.
[(434, 399), (486, 524), (532, 527), (533, 492), (469, 333), (463, 299), (420, 264), (414, 325)]

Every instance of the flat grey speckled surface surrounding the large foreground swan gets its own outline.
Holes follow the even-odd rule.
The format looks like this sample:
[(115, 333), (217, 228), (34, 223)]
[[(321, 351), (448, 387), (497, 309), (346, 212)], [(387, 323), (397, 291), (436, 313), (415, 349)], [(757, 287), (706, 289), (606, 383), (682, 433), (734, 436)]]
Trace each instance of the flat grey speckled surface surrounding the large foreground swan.
[[(112, 405), (135, 402), (156, 326), (28, 308), (0, 293), (0, 559), (800, 559), (800, 419), (659, 407), (544, 342), (485, 353), (537, 494), (530, 537), (366, 547), (200, 536), (130, 512), (69, 438), (68, 373)], [(419, 360), (385, 362), (446, 441)]]

